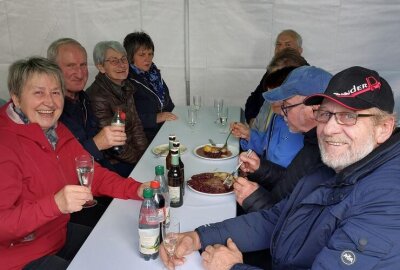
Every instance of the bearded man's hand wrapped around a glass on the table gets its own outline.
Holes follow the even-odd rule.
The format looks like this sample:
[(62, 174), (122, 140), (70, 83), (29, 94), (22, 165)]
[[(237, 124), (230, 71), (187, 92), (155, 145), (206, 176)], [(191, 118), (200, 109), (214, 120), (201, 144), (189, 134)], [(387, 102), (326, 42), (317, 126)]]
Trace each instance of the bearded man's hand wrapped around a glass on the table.
[(169, 257), (164, 245), (161, 243), (160, 258), (169, 270), (173, 270), (175, 266), (182, 265), (185, 262), (185, 256), (199, 250), (200, 247), (200, 238), (197, 232), (180, 233), (175, 247), (175, 255), (172, 258)]

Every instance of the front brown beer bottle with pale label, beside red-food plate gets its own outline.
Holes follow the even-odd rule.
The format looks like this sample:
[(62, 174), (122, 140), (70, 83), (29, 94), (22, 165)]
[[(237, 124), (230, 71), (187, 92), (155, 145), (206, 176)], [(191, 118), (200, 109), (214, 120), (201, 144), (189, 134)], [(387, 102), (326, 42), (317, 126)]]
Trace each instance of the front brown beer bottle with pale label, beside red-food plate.
[(182, 173), (179, 167), (178, 149), (172, 148), (171, 169), (168, 171), (168, 189), (170, 196), (170, 206), (180, 207), (183, 205), (182, 194)]

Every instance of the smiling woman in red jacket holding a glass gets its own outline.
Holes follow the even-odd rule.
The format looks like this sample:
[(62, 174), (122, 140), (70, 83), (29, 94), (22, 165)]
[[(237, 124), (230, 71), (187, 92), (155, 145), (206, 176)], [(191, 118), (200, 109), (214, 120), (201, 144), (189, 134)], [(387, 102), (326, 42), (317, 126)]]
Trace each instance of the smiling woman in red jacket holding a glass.
[(13, 63), (12, 101), (0, 109), (0, 269), (65, 269), (88, 235), (69, 223), (93, 195), (140, 199), (143, 187), (97, 163), (91, 190), (80, 186), (74, 158), (87, 153), (58, 119), (62, 73), (33, 57)]

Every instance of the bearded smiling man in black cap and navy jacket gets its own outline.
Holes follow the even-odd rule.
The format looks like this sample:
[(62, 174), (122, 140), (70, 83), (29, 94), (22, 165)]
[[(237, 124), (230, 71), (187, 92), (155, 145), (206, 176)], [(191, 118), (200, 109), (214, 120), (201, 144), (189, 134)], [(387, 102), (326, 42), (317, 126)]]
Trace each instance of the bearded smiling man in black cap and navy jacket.
[(169, 269), (194, 250), (206, 269), (256, 269), (242, 252), (266, 248), (272, 269), (398, 269), (400, 132), (391, 87), (376, 71), (351, 67), (304, 103), (320, 105), (314, 116), (327, 166), (269, 210), (181, 233), (173, 258), (161, 245)]

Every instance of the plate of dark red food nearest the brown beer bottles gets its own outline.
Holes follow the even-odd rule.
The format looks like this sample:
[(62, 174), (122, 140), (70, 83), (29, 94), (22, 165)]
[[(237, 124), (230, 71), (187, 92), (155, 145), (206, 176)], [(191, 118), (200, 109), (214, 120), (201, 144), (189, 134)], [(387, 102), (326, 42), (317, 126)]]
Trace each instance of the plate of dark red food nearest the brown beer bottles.
[(233, 193), (233, 187), (228, 188), (224, 185), (227, 172), (209, 172), (193, 175), (188, 181), (188, 187), (196, 193), (221, 196)]

